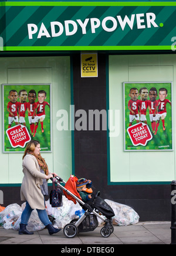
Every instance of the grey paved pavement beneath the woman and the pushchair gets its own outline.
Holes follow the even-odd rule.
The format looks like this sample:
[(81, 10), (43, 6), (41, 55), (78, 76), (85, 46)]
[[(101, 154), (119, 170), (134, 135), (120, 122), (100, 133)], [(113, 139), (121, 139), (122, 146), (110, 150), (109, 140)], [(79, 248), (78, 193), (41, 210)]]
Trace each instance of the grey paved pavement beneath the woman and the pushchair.
[[(33, 235), (19, 235), (18, 231), (0, 227), (0, 245), (57, 244), (60, 245), (60, 252), (81, 254), (79, 248), (82, 248), (82, 250), (84, 248), (83, 251), (89, 250), (87, 252), (91, 252), (103, 246), (104, 249), (101, 250), (114, 252), (113, 250), (117, 249), (116, 245), (119, 244), (171, 244), (171, 222), (138, 222), (134, 225), (113, 227), (114, 232), (107, 238), (102, 237), (100, 234), (102, 227), (97, 227), (94, 231), (79, 233), (75, 238), (66, 238), (63, 234), (63, 229), (53, 235), (49, 235), (46, 228), (34, 232)], [(73, 244), (75, 247), (69, 246)]]

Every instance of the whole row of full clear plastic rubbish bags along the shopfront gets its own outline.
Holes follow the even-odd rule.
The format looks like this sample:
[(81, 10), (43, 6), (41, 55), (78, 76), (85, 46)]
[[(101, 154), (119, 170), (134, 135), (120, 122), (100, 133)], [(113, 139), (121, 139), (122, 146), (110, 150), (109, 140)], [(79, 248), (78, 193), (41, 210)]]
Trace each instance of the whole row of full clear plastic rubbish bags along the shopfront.
[[(69, 201), (65, 196), (62, 197), (63, 206), (52, 208), (48, 201), (46, 201), (46, 211), (52, 224), (55, 228), (63, 228), (66, 224), (70, 223), (72, 219), (79, 219), (84, 210), (78, 202), (74, 204), (72, 201)], [(139, 216), (133, 208), (127, 205), (119, 204), (117, 202), (110, 201), (105, 199), (111, 206), (114, 211), (115, 216), (113, 216), (113, 225), (127, 226), (131, 224), (137, 224), (139, 221)], [(25, 208), (23, 203), (21, 206), (18, 204), (11, 204), (6, 206), (3, 211), (0, 211), (0, 226), (3, 226), (5, 229), (19, 229), (19, 224), (21, 223), (21, 214)], [(99, 227), (103, 225), (103, 221), (100, 218), (97, 218), (99, 221)], [(38, 217), (38, 212), (35, 210), (32, 211), (31, 217), (28, 222), (29, 231), (40, 231), (45, 226), (42, 224)]]

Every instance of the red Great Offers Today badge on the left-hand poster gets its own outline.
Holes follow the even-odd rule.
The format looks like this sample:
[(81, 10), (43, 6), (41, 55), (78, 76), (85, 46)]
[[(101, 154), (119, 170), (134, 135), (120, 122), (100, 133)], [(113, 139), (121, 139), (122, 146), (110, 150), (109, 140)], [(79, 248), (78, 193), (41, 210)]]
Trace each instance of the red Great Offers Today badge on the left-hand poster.
[(22, 124), (7, 129), (6, 134), (12, 147), (25, 147), (26, 143), (31, 140), (28, 129)]

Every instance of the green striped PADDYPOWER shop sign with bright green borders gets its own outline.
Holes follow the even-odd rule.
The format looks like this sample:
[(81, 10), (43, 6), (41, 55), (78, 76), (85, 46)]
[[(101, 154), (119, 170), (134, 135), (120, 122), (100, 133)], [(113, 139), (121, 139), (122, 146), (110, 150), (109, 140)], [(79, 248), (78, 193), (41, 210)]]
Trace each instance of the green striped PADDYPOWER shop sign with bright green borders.
[(4, 51), (172, 50), (176, 41), (176, 2), (2, 2), (0, 8)]

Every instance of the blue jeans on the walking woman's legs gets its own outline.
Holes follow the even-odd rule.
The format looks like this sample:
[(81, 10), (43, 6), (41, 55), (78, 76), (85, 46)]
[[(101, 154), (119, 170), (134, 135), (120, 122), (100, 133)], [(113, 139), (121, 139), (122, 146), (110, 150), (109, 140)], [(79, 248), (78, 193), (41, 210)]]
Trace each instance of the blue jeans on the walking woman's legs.
[[(21, 224), (26, 224), (26, 225), (28, 224), (28, 221), (29, 221), (32, 211), (33, 211), (33, 209), (26, 201), (26, 207), (21, 215)], [(40, 219), (40, 221), (42, 221), (43, 225), (47, 226), (48, 224), (52, 224), (52, 222), (50, 222), (50, 220), (48, 218), (46, 209), (44, 209), (44, 210), (36, 209), (36, 211), (38, 212), (39, 219)]]

